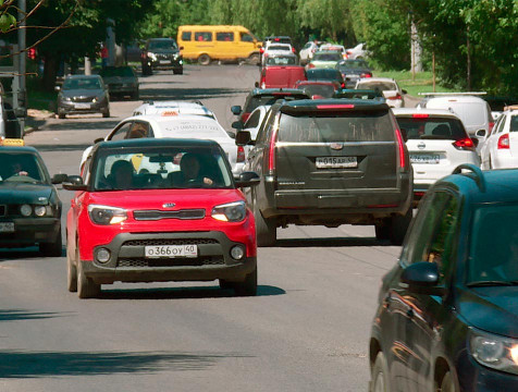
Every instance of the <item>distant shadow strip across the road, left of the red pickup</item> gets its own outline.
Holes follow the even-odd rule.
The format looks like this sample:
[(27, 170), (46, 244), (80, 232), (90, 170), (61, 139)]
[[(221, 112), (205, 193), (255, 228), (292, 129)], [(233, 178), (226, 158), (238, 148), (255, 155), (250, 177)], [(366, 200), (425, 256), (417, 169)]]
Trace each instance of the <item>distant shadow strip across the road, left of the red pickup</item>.
[[(251, 88), (250, 88), (251, 89)], [(144, 100), (189, 100), (221, 98), (248, 93), (250, 89), (237, 88), (143, 88), (140, 99)]]

